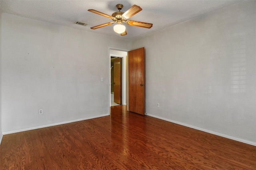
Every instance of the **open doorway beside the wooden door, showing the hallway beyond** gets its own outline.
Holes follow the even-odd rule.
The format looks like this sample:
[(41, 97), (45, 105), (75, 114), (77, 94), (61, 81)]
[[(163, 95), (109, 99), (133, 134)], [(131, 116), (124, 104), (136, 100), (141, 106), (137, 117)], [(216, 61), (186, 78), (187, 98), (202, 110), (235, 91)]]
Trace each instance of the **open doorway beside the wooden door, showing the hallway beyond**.
[(109, 49), (110, 106), (127, 105), (127, 51)]

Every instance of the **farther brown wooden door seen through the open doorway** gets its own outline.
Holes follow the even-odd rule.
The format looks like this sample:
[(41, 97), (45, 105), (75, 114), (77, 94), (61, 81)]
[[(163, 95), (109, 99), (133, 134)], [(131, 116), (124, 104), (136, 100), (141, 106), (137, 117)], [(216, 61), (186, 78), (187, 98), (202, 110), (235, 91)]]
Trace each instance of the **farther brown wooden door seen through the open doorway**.
[(114, 59), (114, 102), (122, 104), (122, 71), (121, 58)]

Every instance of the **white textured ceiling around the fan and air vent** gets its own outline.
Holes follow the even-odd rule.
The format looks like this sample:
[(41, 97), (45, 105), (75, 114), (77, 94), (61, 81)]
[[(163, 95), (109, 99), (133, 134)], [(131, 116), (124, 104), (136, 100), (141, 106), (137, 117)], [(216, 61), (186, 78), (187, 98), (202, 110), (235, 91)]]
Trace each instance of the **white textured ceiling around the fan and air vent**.
[[(126, 25), (127, 35), (124, 39), (133, 39), (161, 30), (163, 28), (190, 20), (197, 16), (225, 8), (242, 0), (1, 0), (1, 12), (42, 20), (78, 29), (98, 32), (110, 36), (119, 36), (113, 31), (114, 24), (90, 29), (92, 26), (111, 22), (112, 20), (87, 11), (98, 10), (108, 15), (118, 11), (116, 4), (123, 4), (125, 12), (136, 4), (142, 11), (130, 20), (152, 23), (153, 27), (141, 28)], [(87, 26), (74, 24), (85, 22)]]

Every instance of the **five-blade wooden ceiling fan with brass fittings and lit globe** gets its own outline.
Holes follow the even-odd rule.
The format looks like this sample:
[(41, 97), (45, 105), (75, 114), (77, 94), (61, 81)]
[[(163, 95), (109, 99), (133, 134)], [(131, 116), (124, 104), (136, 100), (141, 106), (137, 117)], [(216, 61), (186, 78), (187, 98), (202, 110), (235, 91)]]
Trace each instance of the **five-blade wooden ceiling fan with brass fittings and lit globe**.
[(99, 12), (97, 10), (89, 9), (88, 11), (90, 11), (90, 12), (108, 17), (108, 18), (110, 18), (114, 21), (114, 22), (108, 22), (108, 23), (105, 23), (105, 24), (100, 24), (98, 26), (93, 26), (93, 27), (91, 27), (91, 29), (101, 28), (103, 26), (108, 26), (108, 25), (114, 24), (116, 22), (116, 25), (114, 26), (114, 31), (116, 33), (120, 34), (121, 36), (124, 36), (124, 35), (127, 34), (127, 32), (126, 32), (125, 26), (122, 24), (123, 22), (125, 22), (128, 25), (139, 26), (139, 27), (143, 27), (143, 28), (151, 28), (153, 26), (153, 24), (146, 23), (146, 22), (128, 20), (130, 17), (134, 16), (135, 14), (137, 14), (138, 12), (140, 12), (142, 10), (142, 8), (140, 8), (140, 6), (133, 5), (126, 12), (120, 11), (120, 10), (122, 10), (123, 7), (124, 6), (122, 4), (117, 4), (116, 8), (119, 11), (114, 12), (112, 14), (112, 16), (110, 16), (108, 14), (104, 14), (104, 13)]

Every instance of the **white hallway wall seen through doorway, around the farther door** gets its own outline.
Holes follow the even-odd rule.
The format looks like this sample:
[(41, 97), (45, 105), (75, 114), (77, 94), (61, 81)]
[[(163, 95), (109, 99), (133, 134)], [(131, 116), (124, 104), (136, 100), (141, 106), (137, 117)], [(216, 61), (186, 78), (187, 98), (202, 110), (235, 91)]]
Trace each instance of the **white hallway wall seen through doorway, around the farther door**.
[(126, 58), (127, 52), (120, 50), (111, 50), (110, 49), (110, 57), (117, 56), (122, 58), (122, 104), (127, 104), (127, 81), (126, 81)]

